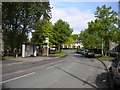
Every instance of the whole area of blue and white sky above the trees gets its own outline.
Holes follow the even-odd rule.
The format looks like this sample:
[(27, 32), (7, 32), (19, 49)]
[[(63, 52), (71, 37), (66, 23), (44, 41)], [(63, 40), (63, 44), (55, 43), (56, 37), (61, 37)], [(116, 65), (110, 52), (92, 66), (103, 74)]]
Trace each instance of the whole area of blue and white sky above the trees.
[[(86, 2), (83, 2), (86, 1)], [(95, 20), (96, 7), (106, 5), (112, 7), (112, 10), (118, 12), (118, 0), (52, 0), (51, 22), (54, 24), (57, 20), (62, 19), (70, 24), (73, 34), (79, 34), (81, 30), (87, 29), (88, 22)], [(91, 1), (91, 2), (90, 2)]]

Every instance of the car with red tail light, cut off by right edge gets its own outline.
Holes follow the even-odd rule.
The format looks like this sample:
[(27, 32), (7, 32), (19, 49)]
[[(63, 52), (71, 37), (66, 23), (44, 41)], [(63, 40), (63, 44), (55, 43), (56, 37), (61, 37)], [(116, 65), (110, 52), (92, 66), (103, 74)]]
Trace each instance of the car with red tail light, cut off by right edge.
[(113, 86), (120, 85), (120, 56), (112, 60), (110, 67), (111, 78)]

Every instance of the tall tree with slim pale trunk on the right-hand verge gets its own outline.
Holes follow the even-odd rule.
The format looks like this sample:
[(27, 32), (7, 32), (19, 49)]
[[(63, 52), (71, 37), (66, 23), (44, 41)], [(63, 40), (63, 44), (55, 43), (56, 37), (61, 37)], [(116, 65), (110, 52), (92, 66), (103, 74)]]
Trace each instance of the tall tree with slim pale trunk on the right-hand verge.
[(114, 40), (114, 37), (119, 32), (116, 25), (118, 24), (117, 13), (111, 10), (111, 7), (103, 5), (101, 8), (97, 7), (95, 12), (96, 20), (92, 24), (94, 31), (98, 32), (105, 42), (105, 51), (109, 50), (109, 42)]

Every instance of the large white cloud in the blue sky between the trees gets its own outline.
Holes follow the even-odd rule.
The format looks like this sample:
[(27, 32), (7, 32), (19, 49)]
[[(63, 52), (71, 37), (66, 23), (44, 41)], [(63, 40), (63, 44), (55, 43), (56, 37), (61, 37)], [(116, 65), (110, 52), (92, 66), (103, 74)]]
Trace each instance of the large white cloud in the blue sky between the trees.
[(94, 20), (95, 17), (94, 13), (90, 12), (90, 10), (80, 11), (76, 7), (53, 7), (52, 23), (55, 23), (59, 19), (68, 22), (70, 27), (73, 28), (73, 34), (78, 34), (81, 30), (86, 29), (88, 27), (87, 23)]

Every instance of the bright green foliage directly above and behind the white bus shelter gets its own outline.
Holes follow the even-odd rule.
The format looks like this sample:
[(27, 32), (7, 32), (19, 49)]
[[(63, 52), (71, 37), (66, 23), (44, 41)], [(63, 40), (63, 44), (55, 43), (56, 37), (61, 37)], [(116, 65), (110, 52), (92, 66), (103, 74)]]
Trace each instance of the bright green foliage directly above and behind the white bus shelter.
[(35, 30), (32, 34), (34, 43), (45, 44), (45, 38), (49, 37), (50, 42), (53, 42), (53, 25), (48, 20), (39, 20), (33, 25)]

